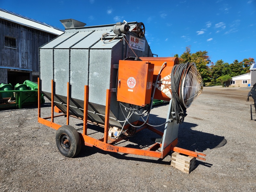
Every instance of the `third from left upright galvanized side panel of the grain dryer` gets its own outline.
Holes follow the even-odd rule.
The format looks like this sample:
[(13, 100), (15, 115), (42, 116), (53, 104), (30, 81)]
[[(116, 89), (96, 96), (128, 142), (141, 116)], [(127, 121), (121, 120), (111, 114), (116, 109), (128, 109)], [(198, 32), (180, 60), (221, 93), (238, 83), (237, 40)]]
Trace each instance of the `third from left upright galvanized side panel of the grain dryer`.
[(84, 85), (88, 85), (88, 49), (70, 50), (71, 97), (84, 100)]

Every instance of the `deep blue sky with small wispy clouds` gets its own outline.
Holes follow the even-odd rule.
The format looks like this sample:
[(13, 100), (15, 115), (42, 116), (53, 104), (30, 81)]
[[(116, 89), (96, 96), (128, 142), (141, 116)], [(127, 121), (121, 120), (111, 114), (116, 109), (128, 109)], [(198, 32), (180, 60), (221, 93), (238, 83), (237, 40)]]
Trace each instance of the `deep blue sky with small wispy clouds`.
[(143, 22), (158, 57), (180, 56), (190, 45), (213, 63), (256, 60), (256, 0), (0, 0), (0, 7), (63, 29), (60, 20), (71, 18), (87, 26)]

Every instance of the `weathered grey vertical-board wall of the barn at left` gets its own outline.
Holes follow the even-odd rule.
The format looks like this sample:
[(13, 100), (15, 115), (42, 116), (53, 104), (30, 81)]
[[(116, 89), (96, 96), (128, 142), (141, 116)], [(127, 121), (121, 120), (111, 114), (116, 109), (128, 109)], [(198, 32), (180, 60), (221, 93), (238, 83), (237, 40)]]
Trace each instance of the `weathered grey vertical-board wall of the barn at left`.
[[(16, 38), (16, 49), (4, 46), (4, 36)], [(38, 48), (57, 35), (0, 20), (0, 66), (39, 72)], [(5, 69), (6, 70), (6, 69)], [(0, 83), (7, 81), (1, 73)]]

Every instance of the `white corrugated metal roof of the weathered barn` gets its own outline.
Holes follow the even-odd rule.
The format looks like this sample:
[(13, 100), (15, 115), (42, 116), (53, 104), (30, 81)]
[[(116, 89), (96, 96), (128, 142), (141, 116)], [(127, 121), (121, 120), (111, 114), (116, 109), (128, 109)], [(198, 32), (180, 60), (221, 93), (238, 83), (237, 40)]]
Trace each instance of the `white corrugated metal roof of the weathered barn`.
[(0, 8), (0, 19), (8, 20), (8, 21), (11, 21), (26, 27), (34, 28), (40, 31), (52, 33), (54, 35), (60, 35), (64, 32), (63, 29), (53, 27), (46, 23), (22, 16), (14, 12), (10, 12), (2, 8)]

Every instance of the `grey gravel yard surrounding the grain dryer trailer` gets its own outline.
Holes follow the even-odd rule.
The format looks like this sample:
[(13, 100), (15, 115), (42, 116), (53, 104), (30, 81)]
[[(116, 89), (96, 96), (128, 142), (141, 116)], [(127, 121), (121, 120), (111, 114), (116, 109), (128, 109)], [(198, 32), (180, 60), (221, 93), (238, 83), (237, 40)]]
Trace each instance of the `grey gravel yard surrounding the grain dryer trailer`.
[[(250, 90), (204, 87), (188, 108), (177, 147), (207, 154), (190, 174), (170, 166), (171, 153), (156, 159), (82, 146), (76, 158), (67, 158), (56, 147), (56, 131), (37, 123), (36, 106), (1, 109), (0, 191), (256, 191), (256, 122), (250, 120), (252, 98), (246, 102)], [(153, 108), (150, 123), (163, 123), (167, 109)], [(46, 116), (50, 103), (42, 108)], [(82, 123), (70, 124), (81, 131)], [(102, 137), (102, 128), (90, 128), (89, 134)], [(143, 130), (121, 145), (146, 148), (155, 138)]]

